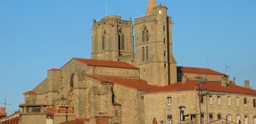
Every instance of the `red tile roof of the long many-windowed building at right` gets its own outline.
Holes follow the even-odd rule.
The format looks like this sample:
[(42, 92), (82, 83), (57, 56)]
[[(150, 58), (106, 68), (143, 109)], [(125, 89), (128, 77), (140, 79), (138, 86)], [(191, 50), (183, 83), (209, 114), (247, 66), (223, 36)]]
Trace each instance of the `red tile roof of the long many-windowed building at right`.
[[(198, 89), (197, 81), (189, 80), (185, 84), (182, 82), (177, 82), (172, 85), (167, 85), (164, 87), (153, 88), (147, 90), (145, 93), (156, 93), (156, 92), (165, 92), (165, 91), (178, 91), (178, 90), (195, 90)], [(224, 92), (224, 93), (241, 93), (241, 94), (248, 94), (248, 95), (256, 95), (256, 90), (252, 90), (249, 88), (244, 88), (238, 85), (229, 84), (227, 87), (222, 87), (221, 82), (205, 82), (204, 84), (200, 85), (200, 89), (202, 90), (210, 90), (216, 92)]]

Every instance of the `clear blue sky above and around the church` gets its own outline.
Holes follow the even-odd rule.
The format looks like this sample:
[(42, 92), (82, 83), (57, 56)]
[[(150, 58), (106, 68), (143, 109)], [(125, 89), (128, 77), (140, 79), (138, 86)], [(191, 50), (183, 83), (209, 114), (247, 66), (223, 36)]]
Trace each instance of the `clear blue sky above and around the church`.
[[(158, 0), (173, 23), (178, 66), (214, 69), (256, 88), (255, 0)], [(145, 15), (147, 0), (108, 0), (108, 15)], [(106, 0), (0, 0), (0, 102), (9, 114), (23, 93), (73, 57), (90, 58), (92, 20), (106, 16)], [(3, 105), (1, 105), (3, 106)]]

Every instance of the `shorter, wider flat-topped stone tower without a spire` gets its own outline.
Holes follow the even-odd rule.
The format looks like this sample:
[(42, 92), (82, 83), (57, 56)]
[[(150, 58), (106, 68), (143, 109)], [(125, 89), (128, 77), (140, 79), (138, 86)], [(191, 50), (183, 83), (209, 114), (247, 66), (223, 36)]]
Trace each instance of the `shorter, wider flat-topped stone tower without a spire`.
[(121, 56), (134, 55), (132, 21), (120, 16), (93, 20), (92, 59), (118, 61)]

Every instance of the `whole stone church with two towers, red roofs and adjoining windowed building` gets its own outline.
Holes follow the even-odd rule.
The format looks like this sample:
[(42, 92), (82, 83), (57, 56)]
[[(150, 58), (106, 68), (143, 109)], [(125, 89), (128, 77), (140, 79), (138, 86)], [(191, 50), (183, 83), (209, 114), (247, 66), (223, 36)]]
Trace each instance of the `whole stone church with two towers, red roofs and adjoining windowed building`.
[(93, 20), (92, 58), (48, 70), (23, 93), (20, 124), (256, 123), (249, 81), (244, 88), (218, 71), (177, 66), (172, 25), (156, 0), (134, 23), (117, 15)]

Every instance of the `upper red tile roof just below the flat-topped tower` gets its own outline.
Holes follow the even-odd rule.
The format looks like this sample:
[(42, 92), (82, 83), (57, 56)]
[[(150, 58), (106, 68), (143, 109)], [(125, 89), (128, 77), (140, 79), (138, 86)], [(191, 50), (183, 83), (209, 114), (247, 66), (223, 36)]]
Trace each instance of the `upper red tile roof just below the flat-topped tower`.
[(136, 66), (132, 66), (129, 63), (121, 61), (103, 61), (95, 59), (84, 59), (84, 58), (74, 58), (81, 63), (85, 63), (88, 66), (106, 66), (106, 67), (115, 67), (115, 68), (125, 68), (125, 69), (138, 69)]

